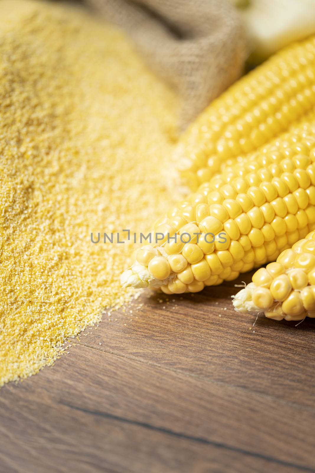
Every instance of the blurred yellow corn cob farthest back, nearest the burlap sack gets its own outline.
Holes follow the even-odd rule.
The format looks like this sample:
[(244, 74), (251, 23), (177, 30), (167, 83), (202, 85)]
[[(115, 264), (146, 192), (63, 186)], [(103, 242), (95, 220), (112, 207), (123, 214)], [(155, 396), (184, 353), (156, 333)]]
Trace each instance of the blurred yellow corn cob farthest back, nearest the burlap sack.
[(298, 123), (315, 105), (315, 36), (277, 53), (216, 99), (179, 142), (179, 174), (191, 190)]

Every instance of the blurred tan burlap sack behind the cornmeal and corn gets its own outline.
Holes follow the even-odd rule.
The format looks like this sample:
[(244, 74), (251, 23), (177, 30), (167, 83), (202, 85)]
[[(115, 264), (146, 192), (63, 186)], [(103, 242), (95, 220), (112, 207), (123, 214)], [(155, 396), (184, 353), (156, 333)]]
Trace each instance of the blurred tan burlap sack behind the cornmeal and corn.
[(181, 128), (242, 72), (245, 35), (227, 0), (85, 1), (122, 27), (151, 68), (178, 88)]

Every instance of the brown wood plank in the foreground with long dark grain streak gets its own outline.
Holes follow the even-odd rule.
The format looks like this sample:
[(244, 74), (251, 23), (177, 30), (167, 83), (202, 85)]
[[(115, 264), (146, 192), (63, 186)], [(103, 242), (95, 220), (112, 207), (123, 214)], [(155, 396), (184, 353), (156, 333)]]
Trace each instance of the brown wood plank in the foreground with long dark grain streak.
[(0, 419), (0, 471), (315, 471), (315, 410), (82, 345)]

